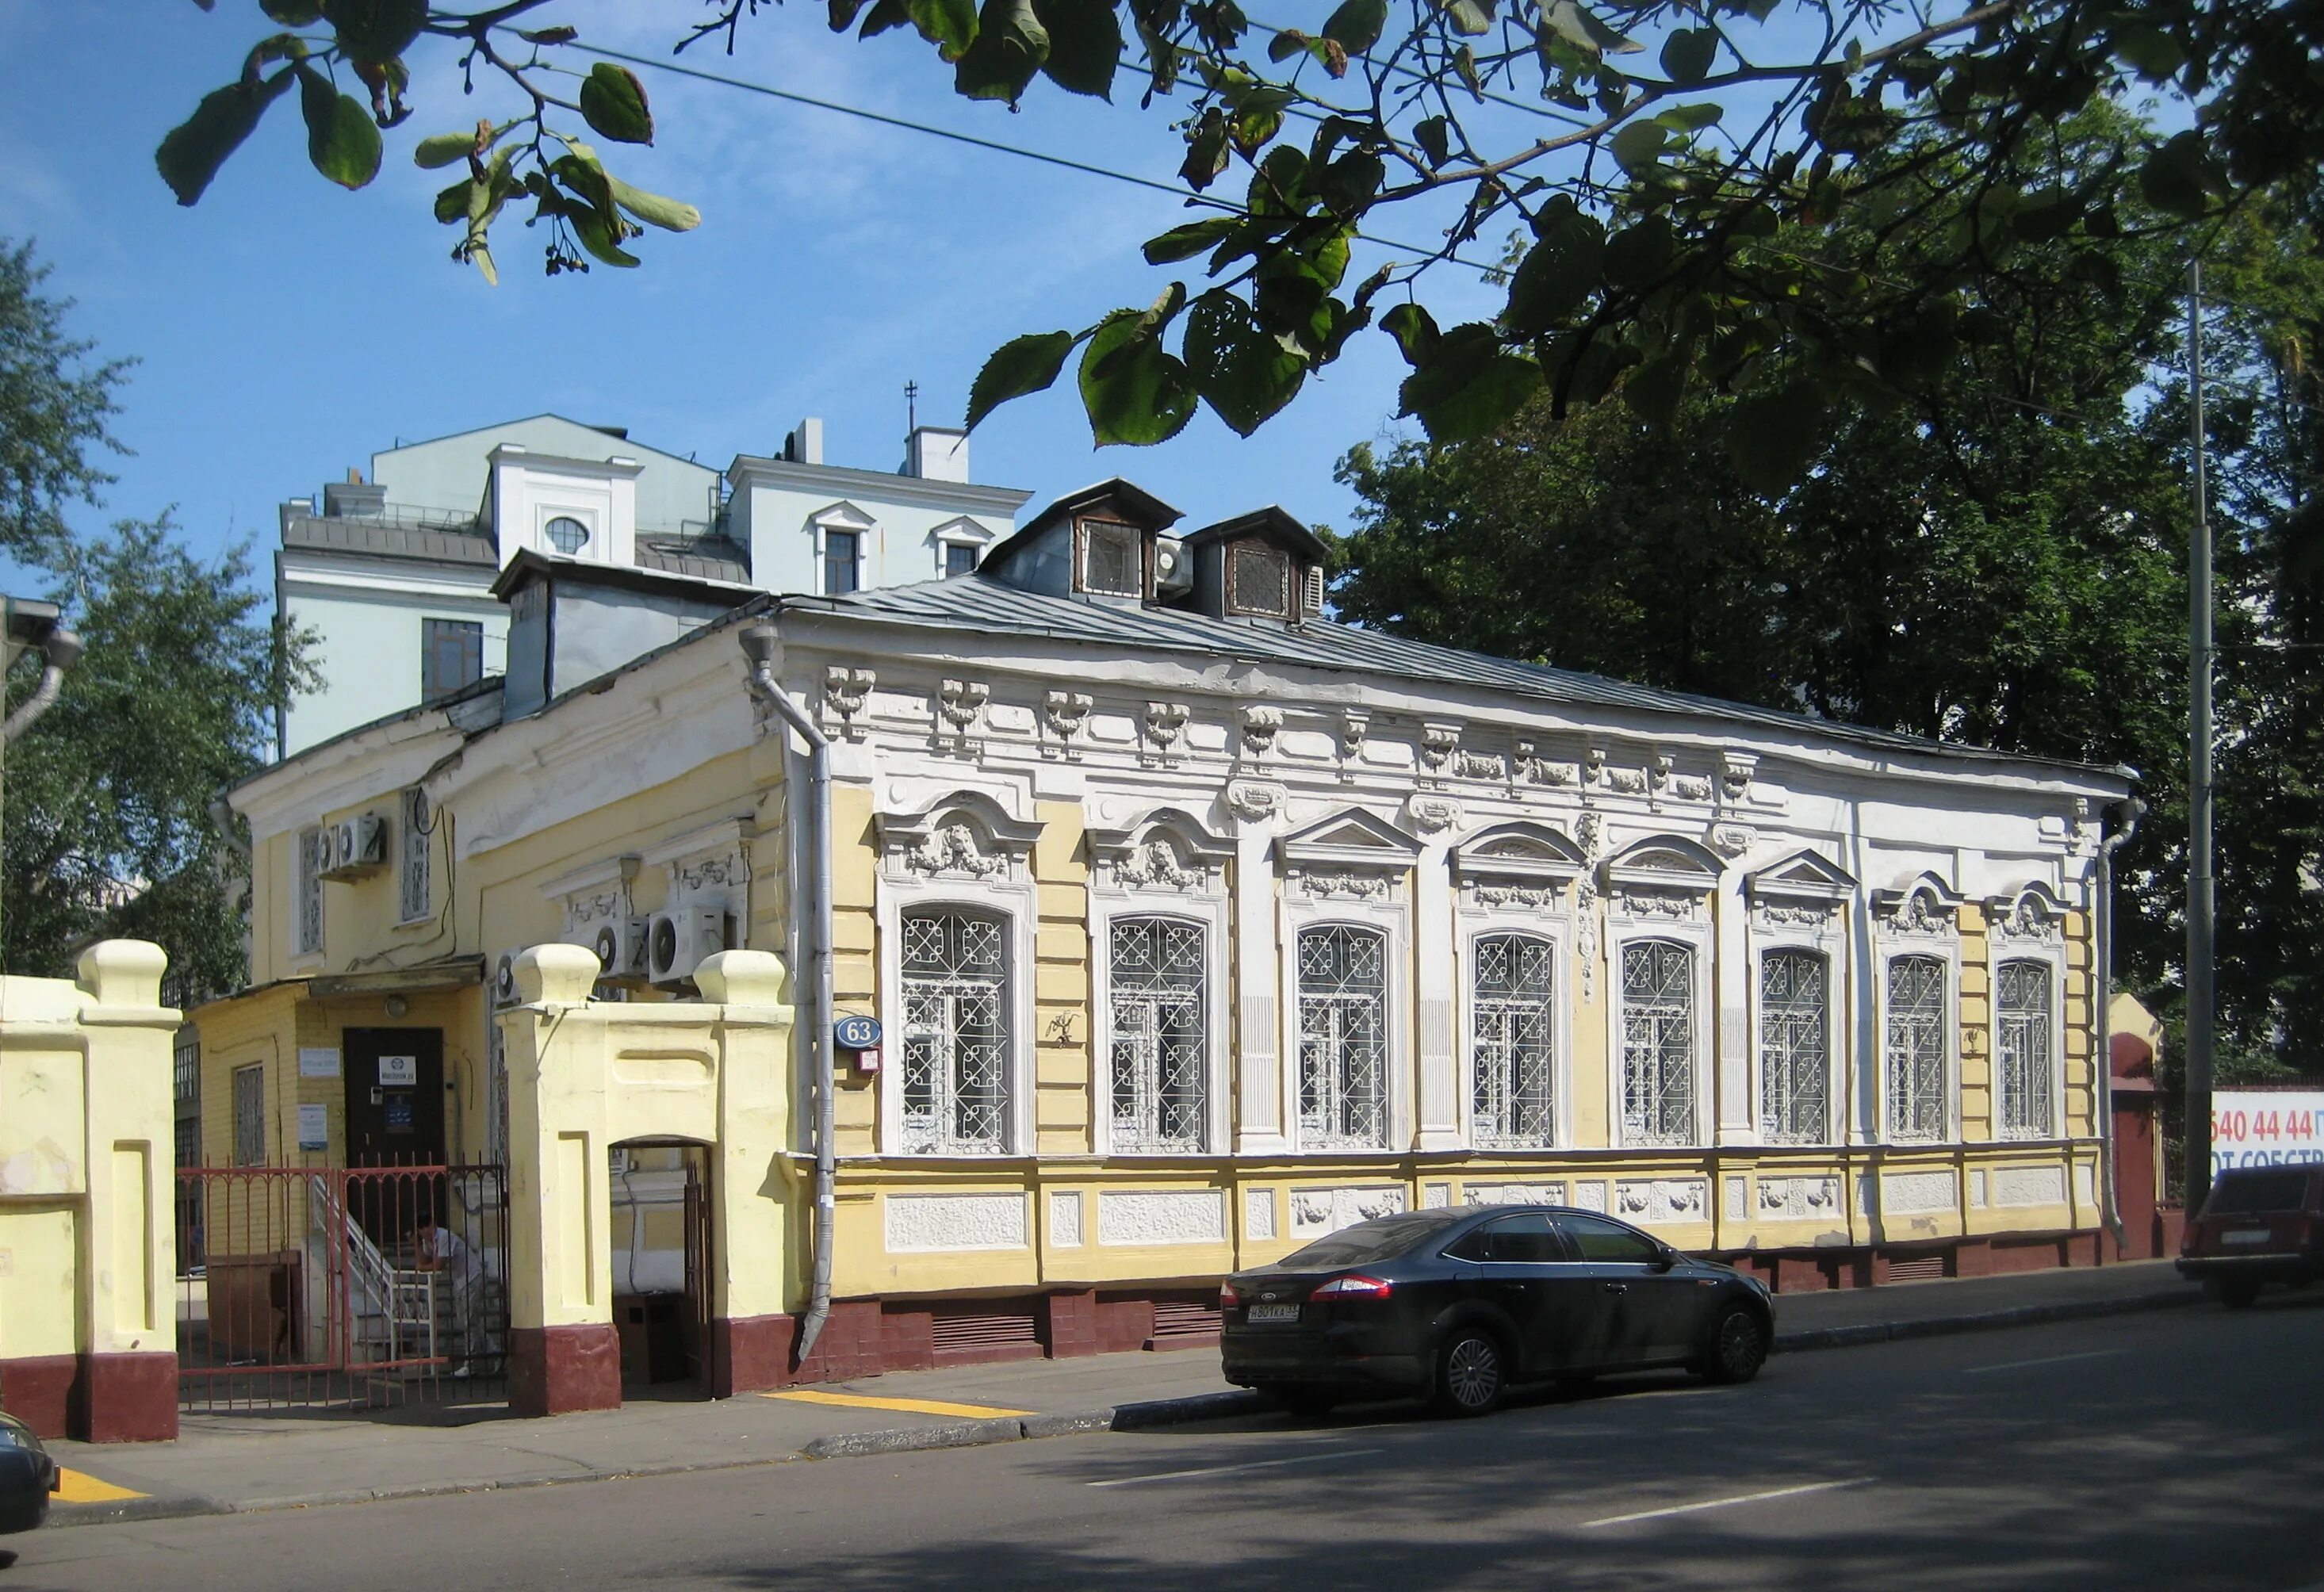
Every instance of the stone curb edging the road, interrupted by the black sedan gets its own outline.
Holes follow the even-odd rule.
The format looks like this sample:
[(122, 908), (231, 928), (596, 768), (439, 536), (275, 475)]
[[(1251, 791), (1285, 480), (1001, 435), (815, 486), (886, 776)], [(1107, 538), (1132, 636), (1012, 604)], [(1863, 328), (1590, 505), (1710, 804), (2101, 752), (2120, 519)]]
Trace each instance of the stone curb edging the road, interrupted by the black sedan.
[[(2059, 1320), (2089, 1320), (2099, 1315), (2129, 1315), (2136, 1311), (2171, 1311), (2201, 1304), (2196, 1288), (2173, 1288), (2168, 1292), (2145, 1292), (2124, 1299), (2073, 1299), (2064, 1304), (2020, 1304), (2006, 1311), (1980, 1311), (1975, 1315), (1927, 1315), (1920, 1320), (1882, 1320), (1857, 1327), (1806, 1327), (1780, 1332), (1771, 1353), (1799, 1355), (1820, 1348), (1859, 1348), (1864, 1343), (1894, 1343), (1901, 1339), (1936, 1339), (1959, 1332), (2003, 1332), (2008, 1327), (2040, 1327)], [(328, 1504), (381, 1504), (390, 1499), (453, 1497), (462, 1492), (516, 1492), (521, 1487), (565, 1487), (588, 1480), (625, 1480), (644, 1476), (688, 1476), (702, 1471), (746, 1471), (797, 1460), (853, 1460), (865, 1455), (927, 1453), (937, 1448), (983, 1448), (988, 1443), (1020, 1443), (1046, 1436), (1088, 1436), (1095, 1432), (1146, 1432), (1155, 1427), (1181, 1427), (1197, 1420), (1227, 1420), (1234, 1415), (1269, 1413), (1274, 1404), (1250, 1390), (1197, 1392), (1181, 1399), (1143, 1399), (1109, 1408), (1078, 1411), (1069, 1415), (999, 1415), (992, 1420), (941, 1420), (925, 1427), (892, 1427), (885, 1432), (844, 1432), (818, 1436), (797, 1453), (762, 1455), (753, 1460), (713, 1460), (706, 1464), (637, 1464), (602, 1471), (574, 1471), (569, 1476), (528, 1476), (523, 1480), (483, 1483), (414, 1483), (409, 1487), (358, 1487), (346, 1492), (314, 1492), (307, 1497), (253, 1499), (228, 1504), (223, 1499), (179, 1494), (151, 1499), (121, 1499), (116, 1504), (53, 1504), (49, 1527), (84, 1525), (130, 1525), (137, 1520), (184, 1520), (191, 1515), (253, 1515), (284, 1508), (318, 1508)]]

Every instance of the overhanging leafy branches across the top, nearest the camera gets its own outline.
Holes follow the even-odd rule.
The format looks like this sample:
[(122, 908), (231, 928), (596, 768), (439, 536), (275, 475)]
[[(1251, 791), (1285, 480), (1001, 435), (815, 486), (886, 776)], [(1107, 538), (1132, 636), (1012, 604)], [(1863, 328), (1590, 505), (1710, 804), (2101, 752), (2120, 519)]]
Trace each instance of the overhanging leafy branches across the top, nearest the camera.
[[(279, 30), (163, 139), (163, 177), (195, 202), (295, 81), (314, 165), (360, 186), (376, 137), (358, 137), (356, 102), (325, 77), (351, 74), (372, 121), (400, 126), (423, 88), (407, 53), (432, 35), (456, 60), (425, 84), (439, 126), (453, 77), (497, 84), (511, 107), (414, 149), (421, 165), (465, 165), (435, 205), (460, 228), (456, 258), (490, 277), (493, 223), (530, 200), (551, 272), (634, 265), (623, 244), (639, 223), (697, 216), (632, 202), (579, 142), (583, 128), (651, 142), (653, 112), (576, 26), (541, 26), (558, 7), (263, 0)], [(969, 100), (1016, 105), (1039, 84), (1111, 100), (1134, 79), (1146, 107), (1171, 102), (1199, 218), (1146, 258), (1202, 258), (1211, 286), (1018, 339), (969, 404), (974, 425), (1053, 383), (1062, 339), (1085, 349), (1099, 442), (1160, 442), (1197, 404), (1248, 435), (1378, 323), (1413, 365), (1401, 404), (1432, 439), (1487, 435), (1536, 393), (1562, 414), (1624, 386), (1662, 409), (1752, 388), (1729, 444), (1745, 469), (1789, 474), (1783, 444), (1820, 409), (1938, 381), (1978, 286), (2020, 251), (2103, 272), (2126, 225), (2175, 230), (2271, 184), (2308, 193), (2324, 163), (2324, 0), (1343, 0), (1311, 30), (1253, 21), (1236, 0), (827, 7), (860, 37), (916, 30)], [(760, 9), (713, 0), (676, 46), (732, 49)], [(2066, 119), (2145, 93), (2192, 126), (2122, 126), (2071, 179), (2022, 179)], [(1920, 163), (1878, 158), (1903, 142)], [(2131, 205), (2145, 221), (2126, 221)], [(1427, 228), (1436, 237), (1348, 281), (1360, 237)], [(1506, 232), (1522, 249), (1501, 314), (1439, 328), (1422, 277)], [(1901, 232), (1927, 235), (1908, 274), (1887, 260)]]

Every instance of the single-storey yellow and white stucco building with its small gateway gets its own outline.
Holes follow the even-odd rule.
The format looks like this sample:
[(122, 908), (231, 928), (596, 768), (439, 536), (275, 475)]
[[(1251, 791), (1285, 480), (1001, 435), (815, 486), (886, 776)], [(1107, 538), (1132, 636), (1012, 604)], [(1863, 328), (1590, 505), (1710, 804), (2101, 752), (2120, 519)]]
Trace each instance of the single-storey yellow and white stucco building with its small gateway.
[(335, 1162), (507, 1160), (555, 1206), (509, 1236), (530, 1408), (604, 1401), (609, 1301), (683, 1271), (634, 1183), (723, 1132), (655, 1116), (704, 1078), (765, 1097), (706, 1162), (720, 1392), (1199, 1339), (1225, 1271), (1448, 1202), (1780, 1288), (2094, 1257), (2126, 772), (1353, 630), (1281, 511), (1174, 521), (1109, 481), (846, 597), (521, 555), (504, 681), (232, 793), (207, 1157), (307, 1106)]

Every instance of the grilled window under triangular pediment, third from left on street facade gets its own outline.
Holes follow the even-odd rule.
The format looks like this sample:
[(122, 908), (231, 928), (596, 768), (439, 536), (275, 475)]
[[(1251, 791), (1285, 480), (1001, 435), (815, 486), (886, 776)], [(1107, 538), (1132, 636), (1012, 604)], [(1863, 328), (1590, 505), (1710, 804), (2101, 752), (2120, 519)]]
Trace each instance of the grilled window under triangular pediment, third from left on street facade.
[(1299, 934), (1299, 1139), (1311, 1150), (1387, 1146), (1387, 934)]

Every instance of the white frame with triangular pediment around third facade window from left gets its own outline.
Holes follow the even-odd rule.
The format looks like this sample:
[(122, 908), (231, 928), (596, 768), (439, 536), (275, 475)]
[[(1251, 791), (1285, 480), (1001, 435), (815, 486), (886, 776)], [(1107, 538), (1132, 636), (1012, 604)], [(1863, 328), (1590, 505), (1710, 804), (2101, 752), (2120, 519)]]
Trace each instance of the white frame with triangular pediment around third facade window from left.
[[(1297, 1155), (1383, 1155), (1413, 1143), (1413, 867), (1420, 844), (1397, 825), (1346, 809), (1278, 841), (1283, 892), (1276, 906), (1281, 969), (1278, 1064), (1283, 1132)], [(1299, 1120), (1299, 934), (1315, 927), (1378, 930), (1387, 937), (1380, 1032), (1387, 1069), (1385, 1143), (1373, 1150), (1308, 1143)]]

